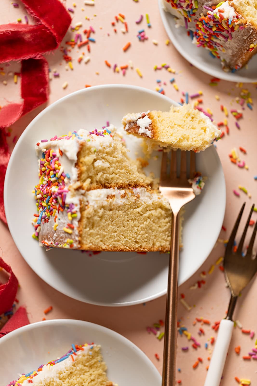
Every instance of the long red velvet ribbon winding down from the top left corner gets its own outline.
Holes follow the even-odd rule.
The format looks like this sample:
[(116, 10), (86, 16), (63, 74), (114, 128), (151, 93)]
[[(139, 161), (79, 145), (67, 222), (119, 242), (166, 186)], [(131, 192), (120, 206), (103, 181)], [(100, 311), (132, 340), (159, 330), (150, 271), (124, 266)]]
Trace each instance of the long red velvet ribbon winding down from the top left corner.
[[(6, 223), (3, 183), (10, 157), (5, 127), (22, 115), (47, 102), (48, 64), (42, 53), (56, 49), (71, 24), (71, 16), (59, 0), (22, 0), (36, 25), (0, 25), (0, 63), (22, 59), (20, 103), (9, 103), (0, 110), (0, 218)], [(2, 130), (1, 130), (2, 129)]]

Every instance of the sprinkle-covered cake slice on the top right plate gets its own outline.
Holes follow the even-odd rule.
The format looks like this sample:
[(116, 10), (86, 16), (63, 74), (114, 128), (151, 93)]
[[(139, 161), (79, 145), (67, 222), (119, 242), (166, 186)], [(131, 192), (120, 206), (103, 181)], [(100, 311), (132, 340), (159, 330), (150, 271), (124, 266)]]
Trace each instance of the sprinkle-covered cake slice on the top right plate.
[(257, 52), (257, 0), (162, 0), (193, 43), (210, 50), (224, 71), (236, 71)]

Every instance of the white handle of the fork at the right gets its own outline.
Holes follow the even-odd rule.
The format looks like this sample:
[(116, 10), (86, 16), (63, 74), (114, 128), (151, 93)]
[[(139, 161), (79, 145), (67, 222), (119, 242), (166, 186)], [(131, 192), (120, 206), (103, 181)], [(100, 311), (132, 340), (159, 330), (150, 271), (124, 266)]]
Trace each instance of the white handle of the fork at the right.
[(204, 386), (219, 386), (232, 337), (234, 322), (223, 319), (218, 328), (218, 337), (212, 354)]

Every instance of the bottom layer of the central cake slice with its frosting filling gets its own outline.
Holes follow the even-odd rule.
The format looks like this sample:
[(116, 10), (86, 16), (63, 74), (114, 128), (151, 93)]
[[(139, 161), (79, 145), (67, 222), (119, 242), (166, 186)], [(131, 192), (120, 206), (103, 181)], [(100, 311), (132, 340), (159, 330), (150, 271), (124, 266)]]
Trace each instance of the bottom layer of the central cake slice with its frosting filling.
[(69, 228), (66, 211), (59, 213), (55, 222), (51, 217), (41, 225), (39, 241), (43, 245), (89, 251), (170, 250), (171, 209), (159, 192), (150, 188), (96, 189), (77, 195), (77, 199), (81, 203), (78, 226)]

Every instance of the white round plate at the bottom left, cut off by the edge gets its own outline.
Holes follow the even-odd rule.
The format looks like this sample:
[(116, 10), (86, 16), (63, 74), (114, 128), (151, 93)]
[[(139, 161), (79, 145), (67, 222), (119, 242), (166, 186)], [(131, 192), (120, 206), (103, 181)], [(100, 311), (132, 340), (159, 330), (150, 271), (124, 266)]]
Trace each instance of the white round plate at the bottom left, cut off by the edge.
[[(57, 319), (32, 323), (0, 339), (0, 385), (18, 373), (27, 374), (61, 357), (72, 343), (100, 344), (110, 381), (122, 386), (159, 386), (161, 376), (150, 359), (134, 343), (109, 328), (82, 320)], [(15, 347), (15, 349), (13, 349)]]

